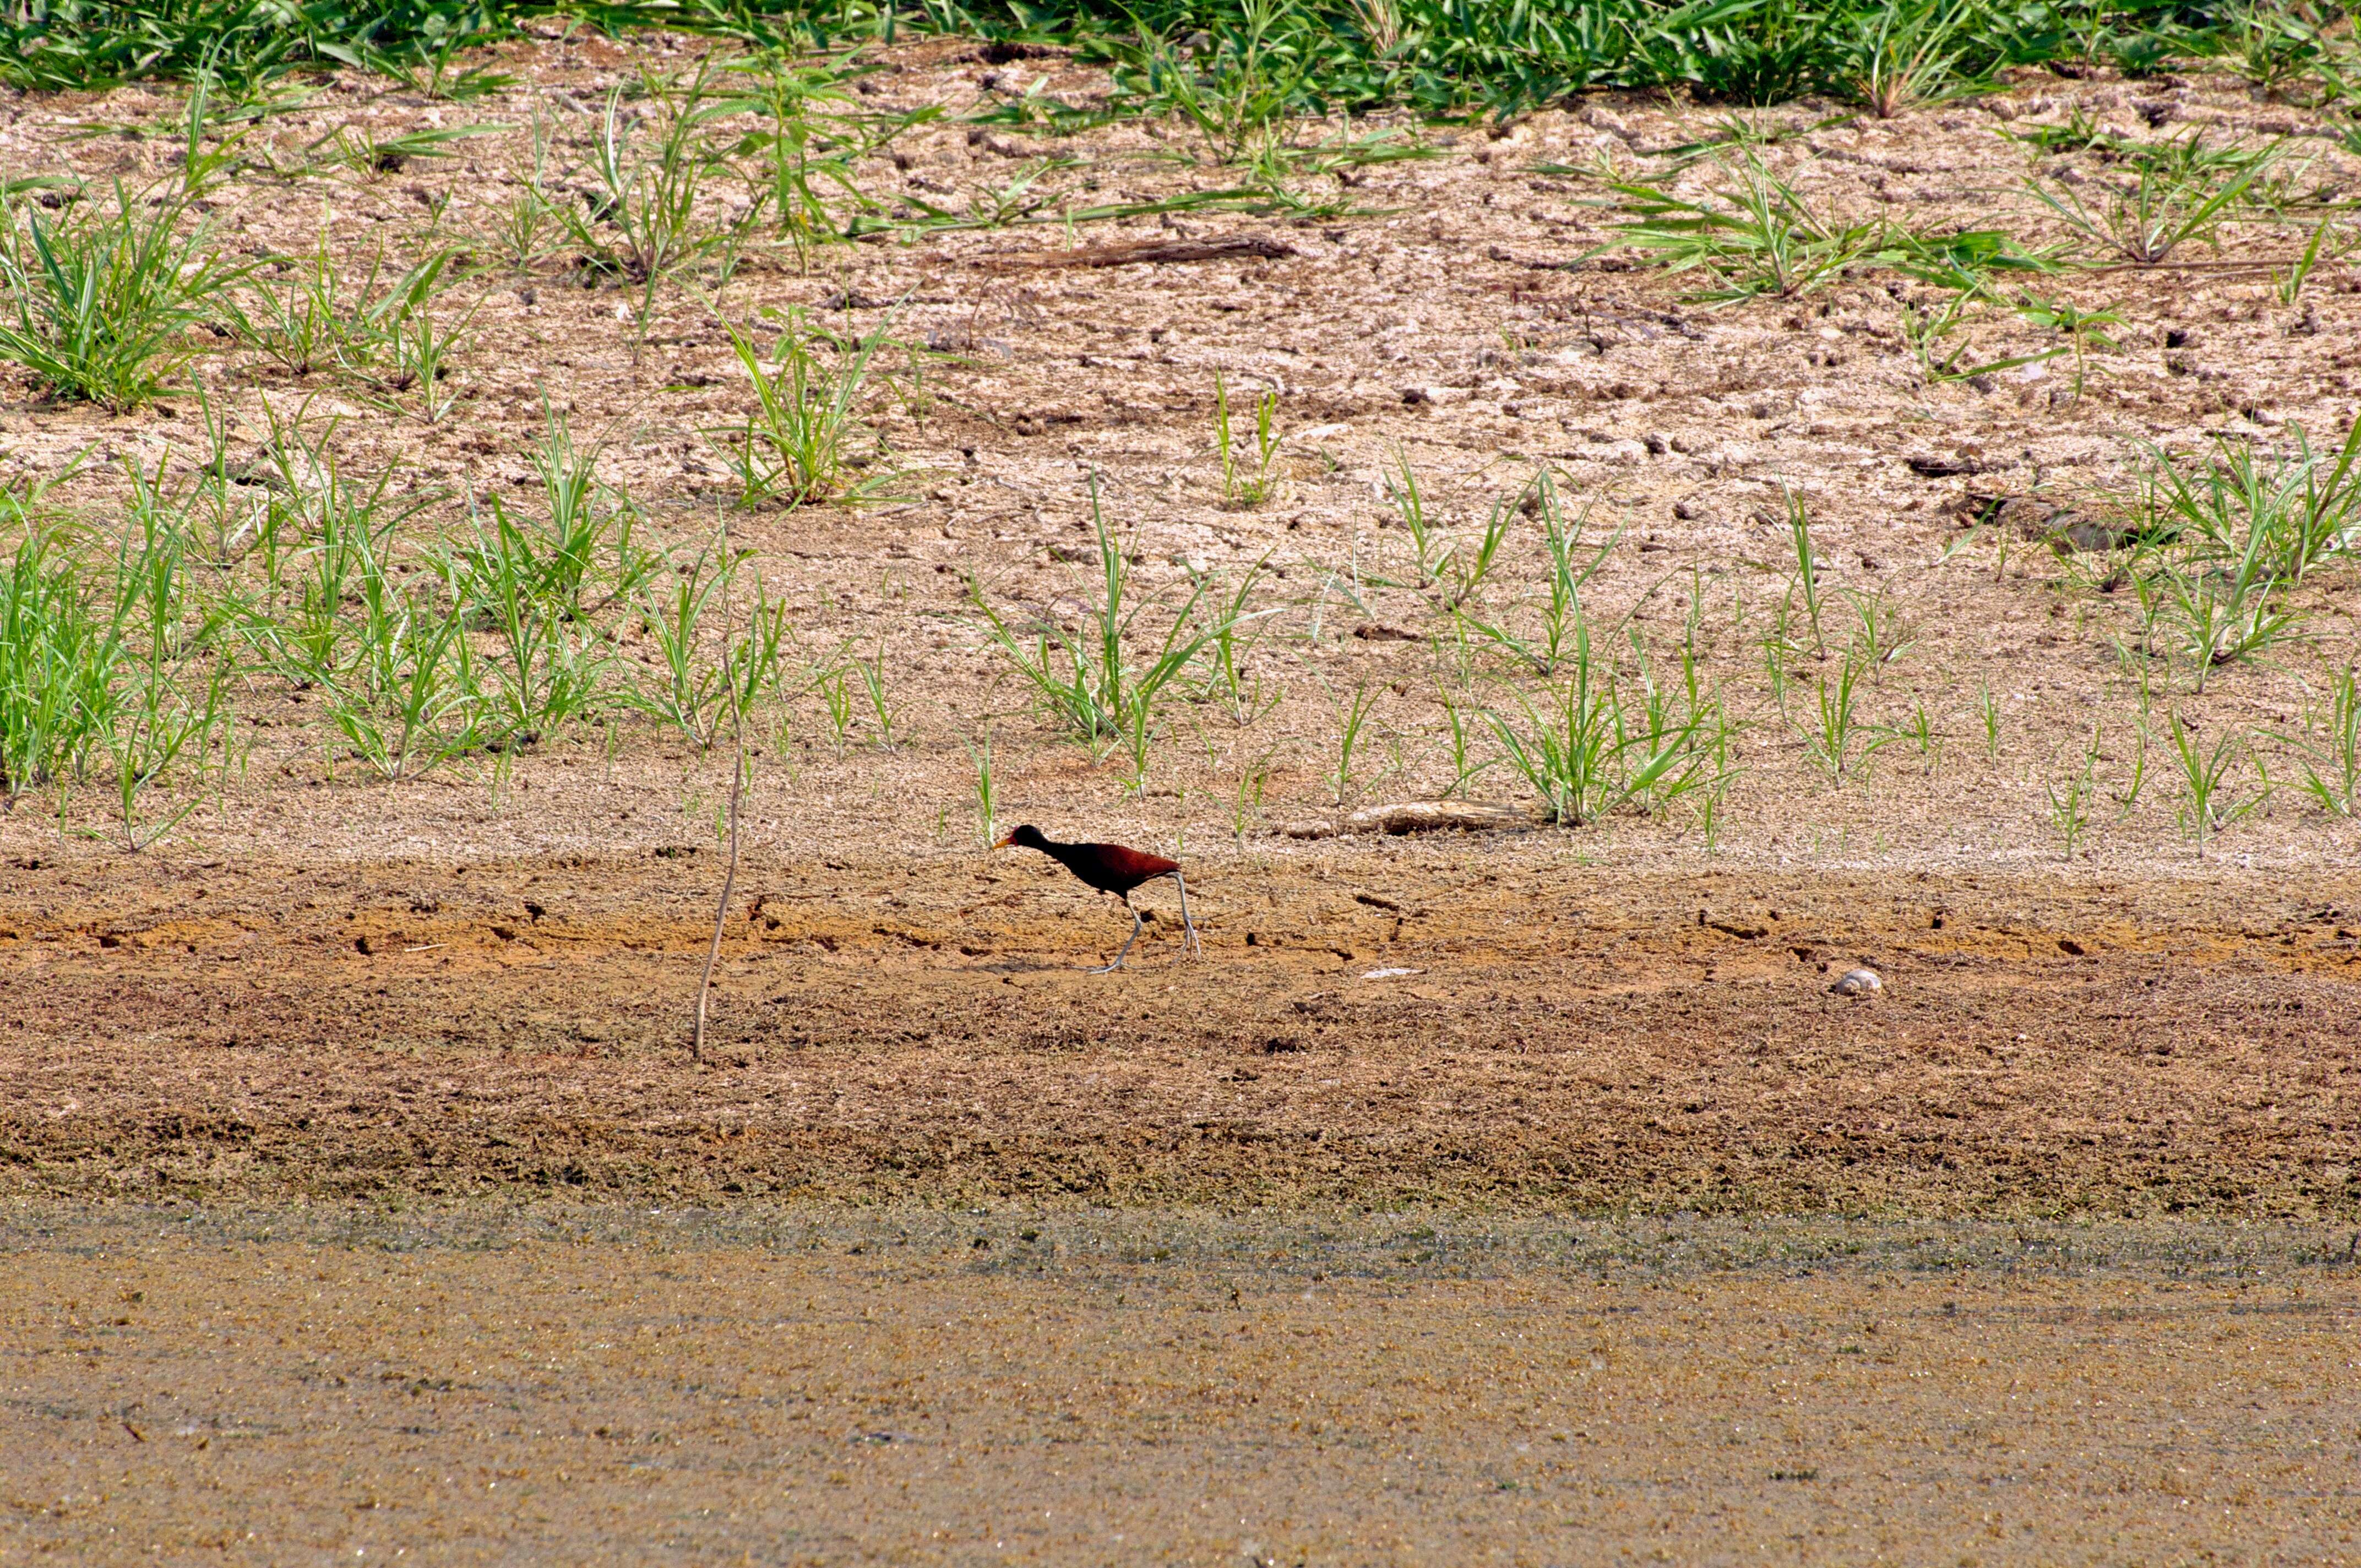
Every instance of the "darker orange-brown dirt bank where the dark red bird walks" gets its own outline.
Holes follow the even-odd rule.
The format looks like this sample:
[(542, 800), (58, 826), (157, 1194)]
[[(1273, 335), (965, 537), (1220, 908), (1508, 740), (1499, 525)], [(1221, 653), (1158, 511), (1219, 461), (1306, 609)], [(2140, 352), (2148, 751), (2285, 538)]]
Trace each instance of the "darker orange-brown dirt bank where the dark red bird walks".
[[(1546, 838), (1546, 843), (1544, 843)], [(1204, 857), (1126, 975), (1039, 860), (19, 857), (17, 1195), (2361, 1211), (2361, 952), (2302, 886)], [(1100, 947), (1105, 942), (1105, 947)], [(1870, 1001), (1827, 982), (1868, 961)], [(1412, 971), (1367, 978), (1372, 971)]]

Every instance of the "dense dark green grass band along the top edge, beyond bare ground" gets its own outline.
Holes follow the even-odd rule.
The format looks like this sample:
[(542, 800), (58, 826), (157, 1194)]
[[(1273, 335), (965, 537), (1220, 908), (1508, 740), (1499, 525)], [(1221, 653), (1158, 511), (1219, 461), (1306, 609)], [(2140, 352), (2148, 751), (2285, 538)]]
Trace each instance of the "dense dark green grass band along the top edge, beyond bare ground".
[[(231, 92), (286, 71), (352, 64), (413, 92), (470, 99), (503, 85), (458, 50), (515, 35), (560, 9), (626, 35), (633, 26), (706, 33), (758, 54), (810, 59), (904, 33), (1060, 43), (1114, 64), (1114, 113), (1171, 113), (1216, 156), (1247, 161), (1287, 120), (1407, 106), (1426, 116), (1511, 116), (1568, 94), (1681, 90), (1724, 104), (1830, 92), (1872, 113), (1981, 90), (2002, 66), (2071, 59), (2156, 73), (2215, 57), (2259, 92), (2328, 99), (2352, 76), (2333, 12), (2314, 2), (2222, 7), (1997, 7), (1979, 0), (1046, 0), (1022, 7), (746, 5), (552, 7), (354, 0), (40, 0), (0, 12), (0, 80), (109, 87), (132, 78), (217, 76)], [(1110, 113), (1032, 94), (1006, 109), (1060, 123)]]

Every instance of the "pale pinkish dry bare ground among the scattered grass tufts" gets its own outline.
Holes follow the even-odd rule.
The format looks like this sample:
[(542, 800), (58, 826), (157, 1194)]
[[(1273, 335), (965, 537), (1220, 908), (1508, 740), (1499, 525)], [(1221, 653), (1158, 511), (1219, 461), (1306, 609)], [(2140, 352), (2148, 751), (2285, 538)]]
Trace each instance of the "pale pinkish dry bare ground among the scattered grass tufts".
[[(2101, 808), (2075, 857), (2146, 869), (2184, 860), (2165, 751), (2179, 713), (2208, 746), (2257, 734), (2271, 777), (2293, 784), (2326, 675), (2356, 654), (2354, 574), (2314, 574), (2290, 605), (2302, 638), (2259, 661), (2193, 671), (2151, 661), (2130, 593), (2101, 590), (2106, 567), (2059, 562), (2016, 524), (1971, 524), (2000, 498), (2049, 503), (2125, 496), (2132, 470), (2158, 444), (2184, 460), (2252, 446), (2293, 451), (2302, 430), (2335, 442), (2354, 416), (2354, 321), (2361, 272), (2326, 246), (2295, 302), (2271, 267), (2309, 239), (2316, 203), (2361, 175), (2337, 128), (2257, 104), (2226, 78), (2149, 83), (2059, 80), (2028, 73), (2009, 92), (1870, 120), (1832, 104), (1754, 116), (1759, 156), (1797, 182), (1816, 210), (1889, 220), (1922, 234), (2004, 227), (2021, 246), (2066, 239), (2026, 189), (2082, 191), (2120, 168), (2092, 151), (2035, 156), (2026, 137), (2080, 123), (2132, 139), (2203, 139), (2205, 146), (2278, 146), (2257, 187), (2271, 208), (2229, 224), (2217, 246), (2189, 241), (2163, 267), (2104, 267), (2035, 276), (2026, 288), (2082, 309), (2113, 309), (2113, 349), (2092, 349), (2080, 392), (2068, 359), (1976, 380), (1927, 385), (1903, 326), (1931, 290), (1882, 269), (1827, 288), (1731, 307), (1686, 302), (1700, 274), (1591, 257), (1617, 213), (1605, 177), (1669, 179), (1707, 196), (1726, 175), (1712, 161), (1681, 165), (1676, 149), (1726, 137), (1726, 113), (1655, 99), (1596, 99), (1499, 128), (1417, 128), (1372, 120), (1355, 135), (1395, 132), (1431, 156), (1303, 175), (1299, 196), (1341, 203), (1308, 222), (1284, 215), (1188, 213), (1077, 224), (1060, 210), (1105, 201), (1180, 198), (1232, 189), (1240, 172), (1169, 125), (1117, 123), (1072, 137), (963, 125), (1008, 94), (1044, 83), (1086, 102), (1105, 78), (1065, 59), (987, 64), (970, 45), (923, 43), (878, 57), (852, 94), (866, 111), (940, 106), (862, 161), (866, 191), (923, 198), (1008, 224), (911, 231), (798, 257), (756, 234), (737, 269), (711, 264), (659, 288), (654, 316), (635, 314), (628, 279), (600, 274), (578, 248), (552, 246), (517, 262), (503, 250), (536, 170), (578, 201), (590, 182), (604, 92), (637, 90), (640, 68), (687, 73), (694, 50), (640, 40), (519, 43), (498, 61), (519, 85), (477, 104), (430, 104), (382, 83), (326, 78), (316, 94), (267, 118), (248, 144), (253, 168), (205, 196), (208, 220), (234, 260), (255, 262), (257, 290), (288, 290), (326, 246), (340, 300), (361, 300), (373, 264), (411, 264), (458, 246), (472, 272), (444, 295), (446, 321), (467, 321), (453, 349), (453, 401), (430, 420), (418, 397), (380, 368), (297, 375), (260, 349), (205, 338), (194, 375), (208, 404), (170, 394), (130, 416), (54, 406), (19, 378), (0, 404), (0, 470), (19, 482), (83, 470), (54, 501), (97, 524), (120, 512), (125, 463), (163, 463), (187, 484), (210, 463), (205, 416), (227, 420), (224, 465), (250, 475), (293, 442), (326, 442), (342, 470), (390, 470), (390, 496), (420, 510), (404, 538), (463, 529), (470, 498), (531, 505), (531, 453), (550, 409), (576, 437), (602, 442), (600, 475), (647, 508), (645, 531), (701, 545), (732, 498), (715, 442), (751, 394), (725, 324), (772, 321), (765, 309), (805, 307), (838, 331), (890, 326), (923, 347), (923, 373), (897, 361), (902, 394), (883, 383), (855, 439), (900, 475), (885, 501), (859, 510), (758, 510), (732, 517), (732, 538), (758, 550), (765, 588), (786, 607), (791, 661), (812, 668), (850, 647), (881, 656), (895, 732), (881, 734), (857, 704), (841, 753), (822, 704), (803, 687), (765, 708), (756, 744), (763, 801), (756, 841), (810, 852), (826, 843), (973, 838), (973, 765), (963, 741), (987, 734), (1011, 810), (1041, 810), (1070, 836), (1152, 836), (1164, 848), (1235, 829), (1256, 836), (1299, 817), (1431, 796), (1452, 784), (1445, 697), (1473, 723), (1476, 760), (1495, 751), (1476, 708), (1516, 713), (1513, 661), (1476, 638), (1461, 661), (1443, 590), (1421, 583), (1388, 477), (1407, 460), (1435, 527), (1473, 545), (1495, 503), (1516, 501), (1539, 468), (1556, 472), (1568, 512), (1589, 515), (1591, 541), (1622, 529), (1584, 590), (1603, 645), (1634, 678), (1627, 638), (1639, 633), (1669, 680), (1679, 645), (1700, 680), (1721, 685), (1740, 730), (1738, 777), (1716, 843), (1757, 864), (1842, 860), (1875, 864), (1986, 864), (2049, 857), (2061, 845), (2047, 791), (2064, 786), (2094, 744)], [(730, 78), (718, 78), (730, 80)], [(123, 90), (104, 99), (19, 99), (0, 130), (0, 172), (130, 182), (158, 179), (177, 156), (163, 135), (170, 92)], [(626, 99), (637, 111), (640, 99)], [(97, 135), (97, 128), (123, 135)], [(449, 144), (446, 158), (399, 170), (323, 161), (333, 137), (392, 137), (496, 128)], [(713, 123), (727, 139), (748, 116)], [(977, 132), (977, 135), (970, 135)], [(654, 132), (642, 128), (640, 139)], [(1310, 146), (1334, 128), (1301, 128)], [(2016, 137), (2014, 142), (2007, 137)], [(305, 151), (312, 149), (312, 151)], [(264, 153), (276, 168), (262, 165)], [(760, 170), (748, 158), (704, 184), (699, 222), (718, 231), (744, 213)], [(1029, 184), (1025, 184), (1029, 182)], [(2082, 182), (2082, 184), (2075, 184)], [(992, 198), (1025, 184), (1025, 201)], [(1067, 246), (1138, 239), (1263, 239), (1287, 250), (1188, 264), (1062, 267)], [(380, 283), (382, 288), (382, 283)], [(2004, 290), (2007, 293), (2007, 290)], [(250, 300), (250, 309), (262, 305)], [(1962, 364), (2038, 354), (2061, 345), (2028, 326), (2014, 295), (1974, 319)], [(621, 319), (619, 319), (621, 312)], [(772, 331), (760, 326), (760, 331)], [(926, 347), (933, 345), (933, 347)], [(1948, 352), (1948, 349), (1945, 349)], [(892, 354), (888, 354), (892, 359)], [(1275, 494), (1258, 505), (1225, 498), (1216, 453), (1216, 375), (1247, 411), (1277, 397), (1282, 437)], [(276, 420), (276, 425), (274, 425)], [(1240, 439), (1249, 432), (1240, 425)], [(300, 465), (297, 465), (300, 468)], [(1192, 571), (1232, 593), (1258, 562), (1247, 607), (1249, 704), (1273, 706), (1240, 725), (1221, 701), (1185, 701), (1162, 723), (1147, 777), (1133, 786), (1114, 758), (1093, 760), (1034, 713), (1022, 680), (982, 635), (973, 576), (1013, 623), (1079, 626), (1091, 595), (1091, 503), (1136, 555), (1138, 590), (1180, 605)], [(234, 484), (257, 503), (260, 479)], [(1764, 640), (1792, 593), (1783, 494), (1806, 501), (1823, 571), (1830, 661), (1804, 659), (1785, 704), (1768, 687)], [(2035, 534), (2040, 529), (2033, 529)], [(2002, 553), (2007, 538), (2007, 553)], [(1955, 550), (1945, 557), (1945, 550)], [(1471, 609), (1518, 635), (1542, 600), (1539, 527), (1518, 522)], [(1934, 746), (1886, 746), (1844, 779), (1809, 760), (1816, 680), (1856, 635), (1846, 595), (1886, 614), (1898, 654), (1858, 694), (1858, 734), (1915, 723)], [(1797, 612), (1799, 614), (1799, 612)], [(1159, 635), (1152, 614), (1145, 623)], [(1804, 638), (1799, 623), (1790, 638)], [(2156, 645), (2158, 654), (2167, 652)], [(630, 659), (647, 661), (647, 640)], [(1546, 701), (1530, 675), (1525, 694)], [(2146, 692), (2146, 697), (2141, 697)], [(1358, 756), (1339, 770), (1341, 716), (1372, 701)], [(1995, 734), (1983, 730), (1990, 699)], [(2139, 741), (2141, 725), (2149, 732)], [(486, 765), (463, 763), (378, 801), (354, 793), (354, 765), (326, 744), (319, 694), (262, 682), (241, 713), (248, 767), (208, 791), (184, 838), (210, 852), (316, 845), (321, 855), (380, 855), (390, 845), (460, 852), (470, 845), (548, 850), (647, 843), (711, 822), (711, 770), (647, 720), (619, 718), (626, 770), (640, 763), (668, 801), (633, 801), (623, 817), (567, 791), (567, 758), (607, 737), (517, 758), (519, 822), (484, 805)], [(890, 739), (892, 746), (878, 741)], [(2316, 737), (2314, 737), (2316, 739)], [(588, 758), (578, 758), (588, 760)], [(652, 775), (673, 763), (687, 782)], [(2141, 772), (2141, 763), (2146, 770)], [(1254, 786), (1261, 779), (1261, 786)], [(2234, 796), (2257, 784), (2234, 770)], [(453, 789), (463, 784), (463, 789)], [(1476, 777), (1476, 793), (1516, 798), (1506, 767)], [(654, 815), (654, 822), (649, 817)], [(71, 827), (106, 831), (106, 801), (66, 801)], [(38, 834), (0, 824), (0, 843)], [(1667, 822), (1622, 819), (1615, 852), (1690, 850), (1702, 829), (1688, 808)], [(2264, 864), (2349, 864), (2349, 822), (2278, 791), (2224, 845)]]

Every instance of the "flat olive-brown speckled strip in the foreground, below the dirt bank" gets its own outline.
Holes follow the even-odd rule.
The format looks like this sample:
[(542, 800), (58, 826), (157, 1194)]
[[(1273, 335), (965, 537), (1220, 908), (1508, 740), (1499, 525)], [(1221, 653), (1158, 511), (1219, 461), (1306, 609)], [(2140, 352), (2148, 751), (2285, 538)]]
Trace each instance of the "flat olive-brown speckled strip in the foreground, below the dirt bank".
[(616, 1209), (0, 1230), (0, 1561), (2352, 1563), (2245, 1226)]

